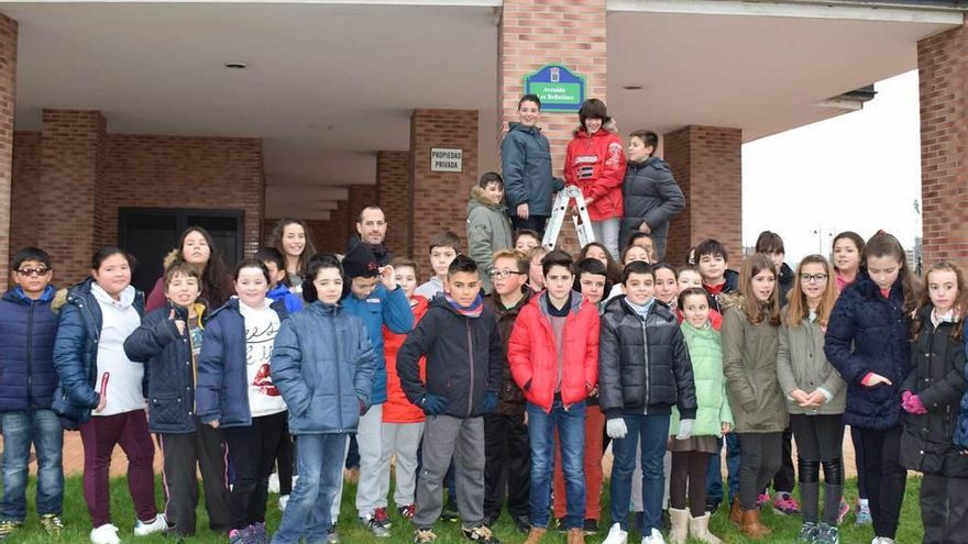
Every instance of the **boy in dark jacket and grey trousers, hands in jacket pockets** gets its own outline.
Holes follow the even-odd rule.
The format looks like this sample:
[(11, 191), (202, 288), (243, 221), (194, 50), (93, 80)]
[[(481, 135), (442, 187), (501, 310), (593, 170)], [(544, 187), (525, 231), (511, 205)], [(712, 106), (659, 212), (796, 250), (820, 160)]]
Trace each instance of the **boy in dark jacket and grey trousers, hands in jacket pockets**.
[[(424, 468), (417, 481), (414, 542), (437, 540), (432, 525), (442, 508), (441, 484), (455, 464), (464, 535), (497, 544), (484, 524), (484, 415), (497, 408), (504, 348), (494, 314), (484, 308), (477, 265), (465, 255), (451, 262), (444, 284), (397, 352), (400, 386), (427, 413)], [(427, 379), (417, 362), (427, 357)], [(480, 475), (480, 476), (479, 476)]]

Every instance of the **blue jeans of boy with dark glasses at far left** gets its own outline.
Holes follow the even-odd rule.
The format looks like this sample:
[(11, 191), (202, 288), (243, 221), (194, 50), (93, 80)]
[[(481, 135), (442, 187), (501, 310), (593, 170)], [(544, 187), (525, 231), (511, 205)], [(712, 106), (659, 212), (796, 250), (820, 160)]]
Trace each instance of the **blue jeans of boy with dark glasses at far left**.
[(26, 517), (26, 477), (30, 446), (37, 452), (37, 513), (57, 514), (64, 504), (64, 430), (52, 410), (26, 410), (0, 414), (3, 425), (3, 500), (0, 518), (23, 521)]

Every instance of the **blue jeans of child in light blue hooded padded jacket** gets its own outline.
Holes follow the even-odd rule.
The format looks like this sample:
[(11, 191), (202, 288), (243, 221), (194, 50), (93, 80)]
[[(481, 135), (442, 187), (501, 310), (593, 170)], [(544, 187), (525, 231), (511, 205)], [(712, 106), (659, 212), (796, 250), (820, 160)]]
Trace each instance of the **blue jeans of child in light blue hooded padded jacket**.
[(343, 479), (343, 458), (346, 434), (300, 434), (296, 441), (296, 463), (299, 479), (289, 495), (279, 529), (273, 544), (295, 544), (304, 537), (306, 544), (326, 542), (332, 525), (333, 496)]

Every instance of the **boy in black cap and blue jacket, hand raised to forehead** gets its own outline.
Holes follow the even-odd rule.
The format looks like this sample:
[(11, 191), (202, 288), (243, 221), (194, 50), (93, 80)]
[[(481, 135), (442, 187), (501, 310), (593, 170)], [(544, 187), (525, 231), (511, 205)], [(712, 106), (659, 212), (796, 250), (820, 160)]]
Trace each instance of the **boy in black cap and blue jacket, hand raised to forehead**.
[[(404, 289), (397, 285), (392, 266), (380, 267), (366, 244), (356, 244), (343, 257), (343, 270), (350, 281), (343, 288), (340, 306), (350, 315), (362, 319), (373, 344), (376, 370), (373, 375), (371, 408), (360, 418), (356, 443), (360, 445), (360, 482), (356, 487), (356, 512), (360, 523), (376, 536), (389, 535), (389, 517), (380, 502), (380, 455), (383, 449), (383, 403), (386, 402), (386, 360), (383, 353), (383, 325), (404, 334), (414, 327), (414, 312)], [(333, 514), (342, 489), (333, 497)], [(338, 515), (333, 515), (336, 520)]]

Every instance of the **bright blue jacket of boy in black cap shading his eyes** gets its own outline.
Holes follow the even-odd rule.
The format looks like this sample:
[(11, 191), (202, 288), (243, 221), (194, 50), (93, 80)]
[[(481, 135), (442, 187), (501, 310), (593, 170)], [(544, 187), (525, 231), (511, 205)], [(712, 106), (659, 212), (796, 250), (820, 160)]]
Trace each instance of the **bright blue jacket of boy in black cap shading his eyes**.
[(397, 286), (393, 291), (387, 291), (383, 284), (376, 287), (365, 299), (353, 293), (346, 293), (340, 301), (343, 311), (350, 315), (356, 315), (366, 324), (370, 342), (373, 343), (373, 354), (376, 357), (376, 374), (373, 375), (373, 393), (370, 401), (373, 404), (386, 402), (386, 359), (384, 358), (383, 325), (392, 332), (404, 334), (414, 329), (414, 312), (404, 288)]

